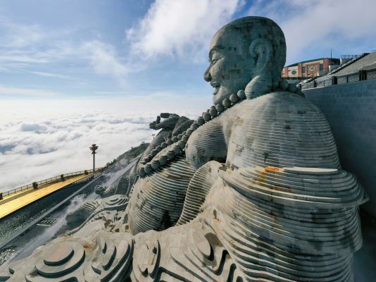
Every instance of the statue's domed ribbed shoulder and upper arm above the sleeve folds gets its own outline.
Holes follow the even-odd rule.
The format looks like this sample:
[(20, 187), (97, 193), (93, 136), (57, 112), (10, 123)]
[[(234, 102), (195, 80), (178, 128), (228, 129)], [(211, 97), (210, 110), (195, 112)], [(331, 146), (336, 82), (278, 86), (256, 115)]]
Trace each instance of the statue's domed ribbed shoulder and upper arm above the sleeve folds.
[(239, 104), (227, 162), (231, 168), (301, 166), (339, 168), (329, 123), (311, 102), (276, 92)]

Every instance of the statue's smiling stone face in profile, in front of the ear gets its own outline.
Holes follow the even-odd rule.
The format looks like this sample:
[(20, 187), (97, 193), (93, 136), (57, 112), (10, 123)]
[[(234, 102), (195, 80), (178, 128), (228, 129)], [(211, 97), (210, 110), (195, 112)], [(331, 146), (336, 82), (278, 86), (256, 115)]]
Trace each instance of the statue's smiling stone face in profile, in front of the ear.
[(244, 90), (251, 80), (255, 62), (238, 32), (219, 30), (211, 40), (208, 69), (203, 78), (214, 87), (213, 103), (221, 103), (232, 93)]

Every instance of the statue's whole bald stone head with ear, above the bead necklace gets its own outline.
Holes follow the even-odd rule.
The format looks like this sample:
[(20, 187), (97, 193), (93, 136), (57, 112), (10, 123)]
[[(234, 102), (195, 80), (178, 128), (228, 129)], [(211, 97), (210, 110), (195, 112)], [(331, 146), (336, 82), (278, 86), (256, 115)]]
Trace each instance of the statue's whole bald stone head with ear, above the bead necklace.
[(214, 104), (247, 85), (251, 96), (251, 92), (270, 91), (280, 81), (286, 61), (283, 32), (268, 18), (239, 18), (215, 33), (209, 61), (204, 78), (215, 87)]

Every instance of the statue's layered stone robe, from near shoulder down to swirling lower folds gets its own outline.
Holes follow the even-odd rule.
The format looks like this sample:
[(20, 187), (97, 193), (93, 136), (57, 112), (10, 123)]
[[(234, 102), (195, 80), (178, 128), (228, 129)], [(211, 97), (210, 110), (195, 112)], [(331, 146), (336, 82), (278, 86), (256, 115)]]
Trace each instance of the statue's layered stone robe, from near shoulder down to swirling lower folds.
[[(185, 152), (198, 169), (177, 226), (132, 237), (93, 221), (0, 278), (353, 281), (367, 196), (341, 170), (330, 126), (311, 102), (290, 92), (245, 100), (194, 131)], [(223, 152), (225, 164), (210, 161)]]

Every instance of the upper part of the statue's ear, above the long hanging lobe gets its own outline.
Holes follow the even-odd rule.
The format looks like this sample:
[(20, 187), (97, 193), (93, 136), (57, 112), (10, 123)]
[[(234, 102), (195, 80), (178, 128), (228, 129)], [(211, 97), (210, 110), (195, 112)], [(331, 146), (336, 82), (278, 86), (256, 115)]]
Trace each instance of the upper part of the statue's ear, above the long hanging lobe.
[(254, 39), (249, 45), (249, 53), (256, 59), (256, 69), (261, 70), (272, 62), (272, 44), (268, 39)]

